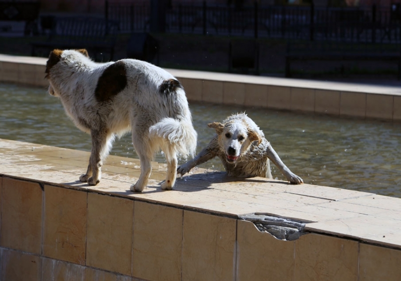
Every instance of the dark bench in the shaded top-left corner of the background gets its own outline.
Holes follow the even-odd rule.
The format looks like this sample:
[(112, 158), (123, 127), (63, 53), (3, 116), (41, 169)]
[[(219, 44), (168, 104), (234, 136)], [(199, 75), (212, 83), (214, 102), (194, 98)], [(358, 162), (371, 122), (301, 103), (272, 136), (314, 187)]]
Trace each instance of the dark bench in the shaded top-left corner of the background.
[(0, 1), (1, 21), (25, 21), (24, 35), (37, 34), (39, 1)]

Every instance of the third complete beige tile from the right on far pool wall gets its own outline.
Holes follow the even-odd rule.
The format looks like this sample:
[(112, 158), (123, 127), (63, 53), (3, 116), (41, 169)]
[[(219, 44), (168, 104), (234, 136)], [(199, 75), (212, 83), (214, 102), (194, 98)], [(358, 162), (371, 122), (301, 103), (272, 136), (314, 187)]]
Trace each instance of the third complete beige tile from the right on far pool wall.
[(316, 90), (315, 112), (340, 115), (340, 91)]

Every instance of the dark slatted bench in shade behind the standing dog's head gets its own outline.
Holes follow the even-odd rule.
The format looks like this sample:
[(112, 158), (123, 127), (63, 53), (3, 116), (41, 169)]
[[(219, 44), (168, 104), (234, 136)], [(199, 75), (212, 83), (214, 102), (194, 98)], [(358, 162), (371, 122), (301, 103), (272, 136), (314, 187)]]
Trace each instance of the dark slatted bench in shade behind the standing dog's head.
[(117, 35), (118, 21), (97, 17), (58, 17), (54, 19), (46, 40), (31, 43), (32, 56), (38, 53), (47, 56), (56, 48), (85, 48), (95, 60), (112, 60)]

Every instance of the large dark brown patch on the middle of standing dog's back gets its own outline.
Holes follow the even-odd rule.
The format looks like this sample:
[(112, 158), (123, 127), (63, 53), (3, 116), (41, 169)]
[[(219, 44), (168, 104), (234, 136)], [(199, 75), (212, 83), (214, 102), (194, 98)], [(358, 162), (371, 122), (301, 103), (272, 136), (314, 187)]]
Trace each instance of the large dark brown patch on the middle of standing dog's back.
[(107, 66), (97, 81), (95, 97), (98, 102), (111, 99), (127, 86), (127, 73), (122, 61)]

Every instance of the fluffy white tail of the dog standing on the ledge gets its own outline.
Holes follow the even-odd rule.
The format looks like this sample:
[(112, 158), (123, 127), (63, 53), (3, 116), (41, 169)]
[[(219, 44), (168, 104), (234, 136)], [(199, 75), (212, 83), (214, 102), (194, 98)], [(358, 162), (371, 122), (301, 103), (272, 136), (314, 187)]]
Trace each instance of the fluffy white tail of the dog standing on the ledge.
[(184, 157), (195, 154), (198, 134), (191, 121), (166, 117), (149, 128), (149, 135), (164, 139), (170, 149), (172, 145)]

